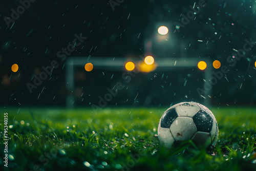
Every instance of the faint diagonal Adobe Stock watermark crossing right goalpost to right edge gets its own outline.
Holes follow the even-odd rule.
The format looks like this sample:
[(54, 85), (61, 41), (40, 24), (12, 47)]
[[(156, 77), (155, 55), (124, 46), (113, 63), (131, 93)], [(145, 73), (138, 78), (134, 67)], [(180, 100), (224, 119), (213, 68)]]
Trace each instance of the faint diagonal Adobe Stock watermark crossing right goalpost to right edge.
[[(239, 49), (237, 53), (232, 53), (231, 56), (227, 57), (227, 62), (230, 63), (231, 67), (236, 66), (237, 61), (241, 60), (241, 57), (245, 56), (245, 52), (248, 52), (251, 50), (251, 48), (256, 44), (252, 41), (252, 38), (250, 40), (244, 39), (245, 44), (243, 46), (243, 49)], [(203, 94), (207, 94), (208, 91), (212, 89), (212, 86), (216, 85), (218, 83), (218, 80), (221, 80), (223, 78), (223, 75), (228, 73), (228, 67), (222, 66), (220, 68), (220, 71), (214, 72), (212, 71), (212, 76), (209, 80), (206, 80), (203, 89), (197, 88), (197, 92), (201, 98), (205, 98)]]

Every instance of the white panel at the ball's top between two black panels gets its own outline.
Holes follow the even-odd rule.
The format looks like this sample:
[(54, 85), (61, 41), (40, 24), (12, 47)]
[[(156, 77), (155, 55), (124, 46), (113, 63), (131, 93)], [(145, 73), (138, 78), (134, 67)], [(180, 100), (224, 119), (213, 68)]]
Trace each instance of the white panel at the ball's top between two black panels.
[(178, 116), (193, 117), (200, 110), (199, 106), (195, 103), (185, 102), (175, 107)]

